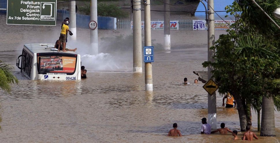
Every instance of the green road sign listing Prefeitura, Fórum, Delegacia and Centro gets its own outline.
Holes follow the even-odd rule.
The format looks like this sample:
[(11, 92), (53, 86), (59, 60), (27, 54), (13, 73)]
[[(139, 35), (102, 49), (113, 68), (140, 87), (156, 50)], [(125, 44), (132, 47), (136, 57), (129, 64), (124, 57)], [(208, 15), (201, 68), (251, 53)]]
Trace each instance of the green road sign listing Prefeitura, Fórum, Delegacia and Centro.
[(56, 0), (8, 0), (7, 24), (56, 25)]

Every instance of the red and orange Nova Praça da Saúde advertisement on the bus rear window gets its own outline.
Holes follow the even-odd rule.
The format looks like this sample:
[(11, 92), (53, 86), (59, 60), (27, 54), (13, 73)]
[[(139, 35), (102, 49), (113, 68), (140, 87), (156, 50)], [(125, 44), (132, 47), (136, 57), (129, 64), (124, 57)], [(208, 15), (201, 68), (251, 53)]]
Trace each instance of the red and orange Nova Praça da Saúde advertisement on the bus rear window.
[(75, 71), (76, 58), (65, 56), (41, 56), (40, 73), (73, 73)]

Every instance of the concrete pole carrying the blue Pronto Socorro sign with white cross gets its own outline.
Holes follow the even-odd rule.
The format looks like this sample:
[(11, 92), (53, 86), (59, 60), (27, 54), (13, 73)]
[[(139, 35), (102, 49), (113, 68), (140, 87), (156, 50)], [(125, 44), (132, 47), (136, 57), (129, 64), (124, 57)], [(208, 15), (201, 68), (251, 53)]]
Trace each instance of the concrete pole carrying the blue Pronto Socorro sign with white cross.
[[(152, 46), (151, 42), (151, 7), (150, 0), (144, 0), (145, 46)], [(145, 90), (153, 91), (152, 62), (145, 63)]]

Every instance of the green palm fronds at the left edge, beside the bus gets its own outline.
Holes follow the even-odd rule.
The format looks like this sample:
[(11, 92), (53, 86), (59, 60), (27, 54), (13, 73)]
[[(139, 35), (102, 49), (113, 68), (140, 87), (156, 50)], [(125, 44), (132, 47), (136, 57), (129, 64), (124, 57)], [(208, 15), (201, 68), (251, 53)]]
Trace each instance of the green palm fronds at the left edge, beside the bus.
[(0, 60), (0, 88), (7, 93), (11, 91), (11, 83), (18, 84), (18, 79), (14, 76), (13, 71), (14, 67)]

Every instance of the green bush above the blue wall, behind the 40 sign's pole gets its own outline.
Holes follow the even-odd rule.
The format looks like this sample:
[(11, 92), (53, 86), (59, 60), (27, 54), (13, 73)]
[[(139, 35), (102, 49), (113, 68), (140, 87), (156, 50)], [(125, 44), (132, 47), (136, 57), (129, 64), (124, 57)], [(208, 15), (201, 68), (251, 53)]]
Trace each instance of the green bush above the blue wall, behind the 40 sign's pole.
[[(79, 8), (79, 10), (84, 12), (86, 15), (90, 15), (90, 4), (86, 3), (85, 6)], [(128, 17), (128, 14), (121, 10), (117, 5), (105, 3), (97, 3), (97, 15), (116, 18)]]

